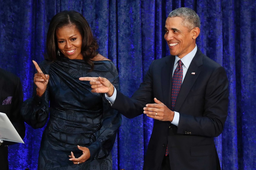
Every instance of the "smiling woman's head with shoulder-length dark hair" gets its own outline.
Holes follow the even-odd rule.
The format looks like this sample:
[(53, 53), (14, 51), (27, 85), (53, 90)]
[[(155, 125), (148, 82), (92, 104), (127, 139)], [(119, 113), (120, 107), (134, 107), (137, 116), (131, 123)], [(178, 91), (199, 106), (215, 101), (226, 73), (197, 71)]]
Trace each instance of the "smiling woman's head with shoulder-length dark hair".
[[(98, 44), (89, 23), (82, 14), (75, 11), (63, 11), (53, 16), (46, 40), (48, 61), (56, 61), (63, 57), (69, 59), (83, 59), (94, 68), (98, 58)], [(103, 60), (108, 60), (104, 57)]]

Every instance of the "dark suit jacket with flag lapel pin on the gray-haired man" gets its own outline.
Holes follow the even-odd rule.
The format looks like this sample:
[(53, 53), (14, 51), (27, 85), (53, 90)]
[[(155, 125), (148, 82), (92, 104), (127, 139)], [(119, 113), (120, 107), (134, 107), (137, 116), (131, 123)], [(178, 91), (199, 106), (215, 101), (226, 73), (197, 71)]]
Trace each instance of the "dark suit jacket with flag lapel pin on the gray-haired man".
[[(112, 108), (133, 118), (143, 114), (143, 107), (157, 98), (171, 109), (174, 61), (175, 56), (154, 60), (140, 88), (131, 98), (117, 91)], [(227, 107), (226, 72), (198, 49), (175, 103), (174, 111), (180, 114), (178, 127), (154, 121), (143, 169), (160, 169), (167, 143), (171, 170), (220, 169), (214, 137), (223, 130)]]

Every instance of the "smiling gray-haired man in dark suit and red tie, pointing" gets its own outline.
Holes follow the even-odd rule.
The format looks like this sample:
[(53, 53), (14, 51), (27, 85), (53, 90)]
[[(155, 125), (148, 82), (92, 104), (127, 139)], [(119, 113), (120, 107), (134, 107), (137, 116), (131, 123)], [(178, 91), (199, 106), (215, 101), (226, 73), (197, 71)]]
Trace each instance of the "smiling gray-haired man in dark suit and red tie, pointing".
[(144, 113), (155, 119), (145, 170), (220, 169), (214, 137), (227, 117), (228, 80), (224, 68), (197, 48), (199, 33), (195, 11), (173, 10), (164, 36), (171, 55), (152, 62), (131, 98), (103, 77), (80, 78), (90, 81), (92, 92), (106, 93), (111, 107), (124, 116)]

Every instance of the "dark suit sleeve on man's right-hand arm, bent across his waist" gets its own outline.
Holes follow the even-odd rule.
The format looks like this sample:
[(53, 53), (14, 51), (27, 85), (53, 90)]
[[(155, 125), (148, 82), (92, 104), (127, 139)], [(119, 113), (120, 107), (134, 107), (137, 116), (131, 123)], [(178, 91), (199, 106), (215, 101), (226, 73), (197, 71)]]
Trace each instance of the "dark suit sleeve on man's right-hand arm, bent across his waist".
[(177, 133), (217, 137), (221, 134), (227, 118), (228, 80), (225, 69), (216, 67), (202, 91), (197, 93), (199, 94), (194, 94), (194, 98), (186, 99), (195, 102), (190, 108), (191, 111), (179, 112)]

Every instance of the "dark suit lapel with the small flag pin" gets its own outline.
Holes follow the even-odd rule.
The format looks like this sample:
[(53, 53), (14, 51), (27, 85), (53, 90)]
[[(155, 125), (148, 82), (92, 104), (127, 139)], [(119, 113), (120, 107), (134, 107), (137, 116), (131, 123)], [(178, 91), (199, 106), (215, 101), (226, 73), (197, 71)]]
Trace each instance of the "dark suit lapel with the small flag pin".
[(189, 65), (188, 71), (187, 71), (186, 76), (181, 85), (181, 88), (180, 88), (180, 91), (179, 91), (179, 94), (177, 96), (176, 103), (174, 106), (175, 111), (179, 111), (182, 103), (187, 98), (189, 91), (191, 90), (192, 86), (194, 85), (197, 77), (199, 76), (199, 74), (201, 72), (201, 70), (199, 69), (199, 66), (202, 64), (203, 64), (203, 54), (198, 49), (197, 53), (195, 54), (195, 57), (193, 58), (193, 60), (191, 61), (190, 65)]

